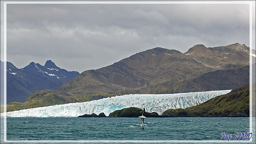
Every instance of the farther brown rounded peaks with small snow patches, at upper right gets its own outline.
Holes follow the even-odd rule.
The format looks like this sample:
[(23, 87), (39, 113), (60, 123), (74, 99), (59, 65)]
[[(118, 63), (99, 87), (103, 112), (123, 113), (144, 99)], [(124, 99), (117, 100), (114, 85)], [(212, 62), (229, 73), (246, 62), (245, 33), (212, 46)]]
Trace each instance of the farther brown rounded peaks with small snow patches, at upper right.
[[(253, 53), (255, 53), (255, 50)], [(250, 48), (238, 43), (209, 48), (202, 44), (197, 44), (184, 54), (191, 56), (205, 67), (216, 70), (234, 68), (234, 65), (237, 67), (239, 64), (246, 65), (250, 61)], [(255, 60), (253, 63), (255, 63)]]

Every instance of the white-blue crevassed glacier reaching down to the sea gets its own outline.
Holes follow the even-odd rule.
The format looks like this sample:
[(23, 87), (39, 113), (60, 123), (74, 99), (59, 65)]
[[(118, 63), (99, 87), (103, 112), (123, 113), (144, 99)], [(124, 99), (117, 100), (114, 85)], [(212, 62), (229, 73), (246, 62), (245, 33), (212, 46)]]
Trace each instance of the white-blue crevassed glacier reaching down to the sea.
[(175, 94), (129, 94), (87, 102), (68, 103), (48, 107), (22, 109), (1, 113), (6, 117), (77, 117), (84, 114), (104, 113), (106, 116), (115, 110), (137, 107), (147, 112), (161, 115), (167, 109), (188, 108), (203, 103), (231, 90), (188, 92)]

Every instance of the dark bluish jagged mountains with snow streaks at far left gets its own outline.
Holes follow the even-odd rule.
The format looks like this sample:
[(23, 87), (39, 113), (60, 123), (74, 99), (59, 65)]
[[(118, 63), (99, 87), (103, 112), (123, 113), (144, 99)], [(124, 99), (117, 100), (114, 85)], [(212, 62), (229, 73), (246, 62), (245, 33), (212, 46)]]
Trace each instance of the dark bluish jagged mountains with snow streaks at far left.
[[(3, 64), (1, 61), (1, 77), (4, 71)], [(20, 69), (11, 62), (6, 62), (6, 102), (25, 102), (33, 92), (56, 89), (78, 75), (76, 71), (69, 72), (57, 67), (51, 60), (47, 60), (44, 66), (31, 62)]]

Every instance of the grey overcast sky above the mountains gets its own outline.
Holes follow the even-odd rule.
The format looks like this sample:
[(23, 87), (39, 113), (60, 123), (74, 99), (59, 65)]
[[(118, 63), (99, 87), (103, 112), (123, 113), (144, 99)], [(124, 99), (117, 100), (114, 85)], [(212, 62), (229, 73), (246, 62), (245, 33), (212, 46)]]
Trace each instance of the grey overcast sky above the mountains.
[[(2, 61), (3, 2), (13, 1), (1, 1)], [(255, 49), (255, 2), (252, 13)], [(52, 60), (82, 73), (155, 47), (182, 53), (196, 44), (249, 47), (249, 14), (249, 4), (232, 3), (7, 4), (7, 61), (23, 68), (32, 61), (44, 65)]]

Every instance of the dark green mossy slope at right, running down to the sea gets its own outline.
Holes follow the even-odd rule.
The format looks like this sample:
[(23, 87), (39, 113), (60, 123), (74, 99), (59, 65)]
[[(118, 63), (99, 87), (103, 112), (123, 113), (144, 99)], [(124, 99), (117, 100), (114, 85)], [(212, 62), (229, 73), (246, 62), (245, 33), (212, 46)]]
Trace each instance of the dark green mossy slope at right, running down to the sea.
[[(252, 85), (255, 105), (255, 83)], [(255, 116), (255, 108), (253, 108)], [(250, 85), (245, 84), (225, 95), (220, 95), (190, 108), (168, 109), (162, 116), (168, 117), (249, 117)]]

